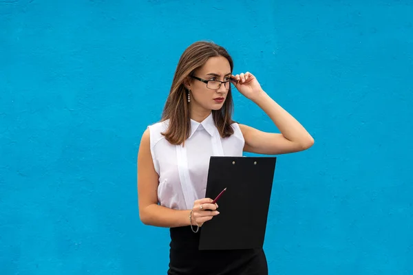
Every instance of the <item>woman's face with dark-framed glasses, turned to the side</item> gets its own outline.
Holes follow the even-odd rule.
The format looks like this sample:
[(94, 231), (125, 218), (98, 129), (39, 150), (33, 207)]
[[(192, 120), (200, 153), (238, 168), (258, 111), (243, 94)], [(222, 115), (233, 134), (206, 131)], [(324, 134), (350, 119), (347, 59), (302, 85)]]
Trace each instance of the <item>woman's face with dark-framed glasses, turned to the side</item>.
[[(231, 77), (231, 66), (224, 56), (213, 56), (208, 59), (202, 67), (197, 69), (193, 76), (203, 80), (227, 81)], [(230, 85), (230, 83), (226, 83)], [(191, 107), (204, 109), (205, 111), (219, 110), (222, 108), (228, 95), (226, 85), (222, 84), (219, 89), (213, 88), (213, 83), (203, 83), (195, 78), (189, 79), (188, 88), (191, 90)]]

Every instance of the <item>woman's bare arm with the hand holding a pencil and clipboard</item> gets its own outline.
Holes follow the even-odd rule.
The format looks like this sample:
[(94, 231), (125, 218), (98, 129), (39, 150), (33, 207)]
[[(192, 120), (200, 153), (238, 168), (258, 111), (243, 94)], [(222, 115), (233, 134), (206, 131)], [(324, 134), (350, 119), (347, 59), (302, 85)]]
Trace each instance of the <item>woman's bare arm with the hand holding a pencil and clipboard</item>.
[[(142, 135), (138, 152), (138, 208), (142, 223), (165, 228), (190, 225), (189, 213), (191, 210), (174, 210), (158, 205), (158, 174), (153, 167), (149, 130)], [(215, 210), (211, 204), (212, 199), (199, 199), (193, 206), (192, 224), (202, 225), (217, 214), (215, 211), (202, 211), (204, 209)]]

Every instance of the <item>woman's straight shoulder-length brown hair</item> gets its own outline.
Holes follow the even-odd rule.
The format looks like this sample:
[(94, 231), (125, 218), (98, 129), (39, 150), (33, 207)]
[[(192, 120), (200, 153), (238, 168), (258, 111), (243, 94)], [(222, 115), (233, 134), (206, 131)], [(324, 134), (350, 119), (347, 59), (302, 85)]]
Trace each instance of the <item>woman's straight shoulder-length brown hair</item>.
[[(169, 126), (165, 138), (171, 144), (182, 144), (191, 134), (191, 114), (189, 113), (189, 102), (184, 85), (191, 74), (207, 63), (208, 58), (213, 56), (224, 56), (233, 71), (233, 60), (224, 47), (211, 42), (198, 41), (187, 47), (176, 67), (175, 76), (169, 91), (169, 96), (162, 113), (162, 121), (169, 120)], [(233, 98), (231, 88), (228, 91), (224, 105), (220, 110), (212, 110), (213, 121), (218, 128), (221, 137), (229, 137), (234, 133), (231, 124), (233, 113)]]

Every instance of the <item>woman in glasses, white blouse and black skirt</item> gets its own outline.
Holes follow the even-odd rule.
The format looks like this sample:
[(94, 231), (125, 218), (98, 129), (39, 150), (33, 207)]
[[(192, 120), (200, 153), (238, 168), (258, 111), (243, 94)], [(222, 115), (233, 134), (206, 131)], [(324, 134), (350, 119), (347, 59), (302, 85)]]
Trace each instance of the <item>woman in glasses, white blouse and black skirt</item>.
[[(281, 133), (233, 122), (231, 85), (261, 107)], [(291, 153), (313, 142), (253, 74), (233, 75), (232, 58), (223, 47), (190, 45), (176, 68), (162, 120), (143, 133), (138, 152), (139, 215), (147, 225), (170, 228), (168, 274), (268, 274), (262, 249), (198, 250), (198, 229), (220, 214), (204, 197), (209, 158), (243, 151)]]

